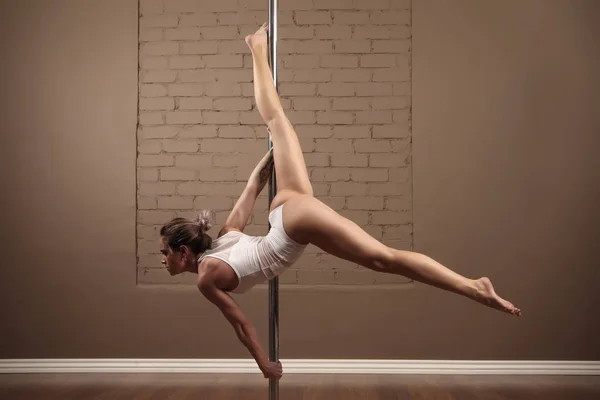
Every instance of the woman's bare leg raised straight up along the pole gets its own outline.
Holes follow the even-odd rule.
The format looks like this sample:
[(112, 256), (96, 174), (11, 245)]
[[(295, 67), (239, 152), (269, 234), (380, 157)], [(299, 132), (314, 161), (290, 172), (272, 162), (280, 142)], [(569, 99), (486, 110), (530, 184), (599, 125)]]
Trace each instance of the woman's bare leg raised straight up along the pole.
[[(253, 35), (246, 36), (246, 43), (252, 52), (256, 106), (273, 141), (277, 191), (312, 196), (313, 189), (298, 136), (283, 111), (273, 83), (267, 58), (266, 24)], [(274, 200), (272, 208), (276, 207), (277, 203)]]

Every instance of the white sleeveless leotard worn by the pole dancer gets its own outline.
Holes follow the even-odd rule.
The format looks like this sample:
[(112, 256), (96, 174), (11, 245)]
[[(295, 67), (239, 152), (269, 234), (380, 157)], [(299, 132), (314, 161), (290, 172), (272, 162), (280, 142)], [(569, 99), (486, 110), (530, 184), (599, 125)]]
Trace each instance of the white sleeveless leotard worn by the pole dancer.
[(227, 263), (236, 273), (239, 284), (233, 293), (244, 293), (283, 273), (304, 252), (302, 245), (290, 238), (283, 227), (283, 206), (269, 214), (271, 229), (266, 236), (250, 236), (229, 231), (213, 240), (211, 248), (198, 258), (214, 257)]

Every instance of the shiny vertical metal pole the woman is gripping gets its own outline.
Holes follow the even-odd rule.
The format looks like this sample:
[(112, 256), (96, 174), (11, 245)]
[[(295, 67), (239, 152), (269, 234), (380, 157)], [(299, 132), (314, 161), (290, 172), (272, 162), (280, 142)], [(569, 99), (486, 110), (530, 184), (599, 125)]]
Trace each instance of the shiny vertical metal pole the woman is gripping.
[[(277, 9), (278, 0), (269, 0), (269, 59), (271, 60), (271, 71), (275, 90), (278, 91), (277, 82)], [(273, 143), (268, 139), (269, 150)], [(275, 168), (269, 182), (269, 209), (273, 198), (277, 193), (277, 182), (275, 179)], [(271, 227), (269, 226), (269, 229)], [(279, 361), (279, 278), (275, 277), (269, 281), (269, 359), (273, 362)], [(269, 380), (269, 400), (279, 400), (279, 382), (276, 379)]]

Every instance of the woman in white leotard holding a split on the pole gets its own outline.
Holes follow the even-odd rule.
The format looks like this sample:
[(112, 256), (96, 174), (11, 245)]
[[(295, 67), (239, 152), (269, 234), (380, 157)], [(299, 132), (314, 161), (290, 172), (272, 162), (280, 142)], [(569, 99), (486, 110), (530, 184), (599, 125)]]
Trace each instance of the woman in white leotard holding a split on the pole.
[[(281, 364), (268, 360), (252, 323), (228, 292), (243, 293), (278, 276), (308, 244), (375, 271), (404, 275), (509, 314), (521, 314), (494, 292), (489, 279), (468, 279), (425, 255), (389, 248), (313, 197), (298, 138), (273, 84), (266, 24), (245, 40), (253, 56), (256, 105), (272, 137), (273, 149), (252, 172), (217, 239), (213, 241), (205, 234), (211, 227), (210, 214), (202, 212), (196, 223), (176, 218), (163, 226), (160, 246), (162, 263), (171, 275), (185, 271), (198, 274), (199, 290), (233, 325), (266, 378), (281, 377)], [(273, 163), (278, 191), (269, 214), (272, 228), (264, 237), (246, 235), (244, 227)]]

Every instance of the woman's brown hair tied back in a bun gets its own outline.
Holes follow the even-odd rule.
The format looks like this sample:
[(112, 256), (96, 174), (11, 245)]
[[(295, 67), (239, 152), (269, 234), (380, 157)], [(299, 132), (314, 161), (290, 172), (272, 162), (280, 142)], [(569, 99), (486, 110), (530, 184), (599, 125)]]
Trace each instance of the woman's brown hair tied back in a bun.
[(174, 218), (163, 225), (160, 236), (173, 250), (188, 246), (195, 254), (204, 253), (212, 245), (212, 238), (205, 232), (212, 227), (213, 216), (212, 211), (202, 210), (193, 220)]

